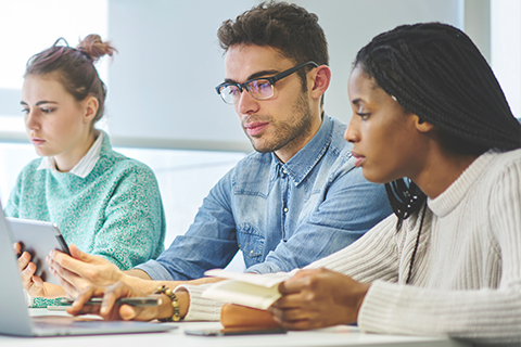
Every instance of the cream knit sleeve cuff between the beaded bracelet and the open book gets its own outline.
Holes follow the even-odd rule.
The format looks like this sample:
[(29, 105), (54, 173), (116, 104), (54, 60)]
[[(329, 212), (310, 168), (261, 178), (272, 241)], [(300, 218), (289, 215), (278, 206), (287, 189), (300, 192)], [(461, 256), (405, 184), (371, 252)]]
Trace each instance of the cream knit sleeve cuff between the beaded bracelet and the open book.
[(188, 285), (182, 284), (176, 287), (178, 290), (185, 290), (190, 296), (190, 306), (188, 307), (186, 321), (219, 321), (220, 309), (224, 303), (213, 299), (203, 298), (203, 292), (212, 284), (202, 285)]

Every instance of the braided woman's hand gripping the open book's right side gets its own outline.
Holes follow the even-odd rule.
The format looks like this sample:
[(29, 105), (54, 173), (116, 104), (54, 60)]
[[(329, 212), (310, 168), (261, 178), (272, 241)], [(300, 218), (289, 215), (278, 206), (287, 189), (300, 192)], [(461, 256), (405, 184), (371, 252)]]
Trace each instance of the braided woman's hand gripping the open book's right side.
[(279, 284), (282, 297), (268, 311), (289, 330), (354, 323), (369, 286), (326, 269), (301, 270)]

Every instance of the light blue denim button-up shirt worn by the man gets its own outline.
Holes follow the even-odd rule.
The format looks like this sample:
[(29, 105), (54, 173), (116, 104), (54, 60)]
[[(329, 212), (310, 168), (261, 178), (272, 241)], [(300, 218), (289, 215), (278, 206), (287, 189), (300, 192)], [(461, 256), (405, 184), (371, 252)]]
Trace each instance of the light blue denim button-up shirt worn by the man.
[(328, 116), (288, 163), (243, 158), (203, 201), (194, 222), (156, 260), (153, 280), (191, 280), (224, 268), (241, 249), (247, 272), (291, 271), (360, 237), (392, 213), (383, 184), (354, 166), (345, 124)]

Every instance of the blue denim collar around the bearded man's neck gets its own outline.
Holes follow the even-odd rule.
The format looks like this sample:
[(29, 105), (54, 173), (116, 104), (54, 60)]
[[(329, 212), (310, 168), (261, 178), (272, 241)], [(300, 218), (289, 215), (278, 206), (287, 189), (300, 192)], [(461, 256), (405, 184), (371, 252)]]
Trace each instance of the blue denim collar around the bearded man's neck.
[(294, 180), (295, 185), (298, 185), (328, 151), (333, 133), (332, 130), (333, 121), (326, 114), (322, 114), (322, 124), (317, 133), (288, 163), (281, 164), (275, 153), (271, 153), (276, 165), (274, 169), (277, 169), (277, 166), (280, 165)]

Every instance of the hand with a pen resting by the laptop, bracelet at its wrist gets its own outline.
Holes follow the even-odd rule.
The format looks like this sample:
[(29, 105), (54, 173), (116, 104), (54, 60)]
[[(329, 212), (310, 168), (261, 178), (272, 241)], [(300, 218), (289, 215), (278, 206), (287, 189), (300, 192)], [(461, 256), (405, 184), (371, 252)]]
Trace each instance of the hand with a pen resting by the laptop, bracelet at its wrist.
[[(176, 293), (177, 294), (177, 293)], [(85, 305), (91, 297), (103, 296), (103, 303), (100, 305)], [(129, 305), (115, 305), (115, 301), (122, 297), (158, 297), (160, 305), (151, 307), (136, 307)], [(171, 317), (174, 309), (171, 300), (164, 294), (151, 294), (138, 291), (123, 282), (117, 282), (112, 286), (90, 286), (82, 292), (74, 301), (67, 312), (74, 316), (93, 313), (99, 314), (105, 320), (137, 320), (150, 321), (152, 319), (162, 319)]]

